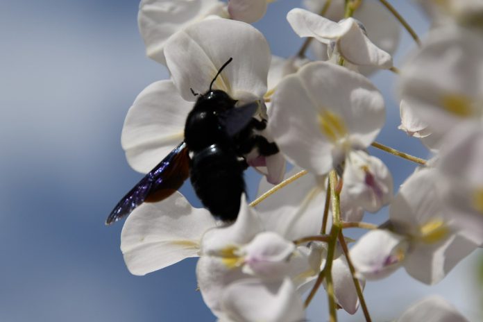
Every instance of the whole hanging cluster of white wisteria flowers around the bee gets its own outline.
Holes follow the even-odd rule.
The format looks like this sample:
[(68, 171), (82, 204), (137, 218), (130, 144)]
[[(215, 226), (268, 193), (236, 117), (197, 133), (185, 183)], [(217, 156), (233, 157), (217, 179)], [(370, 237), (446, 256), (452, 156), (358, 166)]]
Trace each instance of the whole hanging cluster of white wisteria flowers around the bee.
[[(196, 94), (212, 80), (235, 108), (257, 102), (253, 117), (266, 121), (257, 135), (280, 153), (239, 155), (265, 178), (256, 201), (240, 196), (235, 222), (218, 221), (175, 192), (130, 214), (121, 251), (135, 275), (199, 257), (198, 287), (219, 321), (304, 321), (320, 285), (331, 321), (337, 308), (354, 314), (359, 306), (369, 320), (366, 280), (403, 266), (432, 285), (483, 244), (483, 4), (421, 1), (432, 29), (419, 40), (387, 1), (306, 0), (307, 9), (287, 13), (306, 38), (303, 49), (279, 58), (250, 25), (269, 2), (141, 1), (146, 53), (171, 78), (146, 87), (128, 112), (121, 142), (133, 169), (150, 171), (183, 141)], [(400, 22), (418, 47), (396, 68)], [(305, 56), (309, 44), (314, 59)], [(399, 128), (420, 139), (431, 160), (375, 142), (385, 106), (366, 76), (378, 69), (399, 74)], [(370, 155), (371, 145), (417, 164), (395, 196), (397, 169)], [(287, 173), (286, 160), (294, 166)], [(386, 222), (362, 222), (382, 207), (389, 207)], [(346, 238), (354, 227), (368, 232)], [(434, 312), (431, 321), (466, 321), (440, 298), (398, 321), (429, 321)]]

